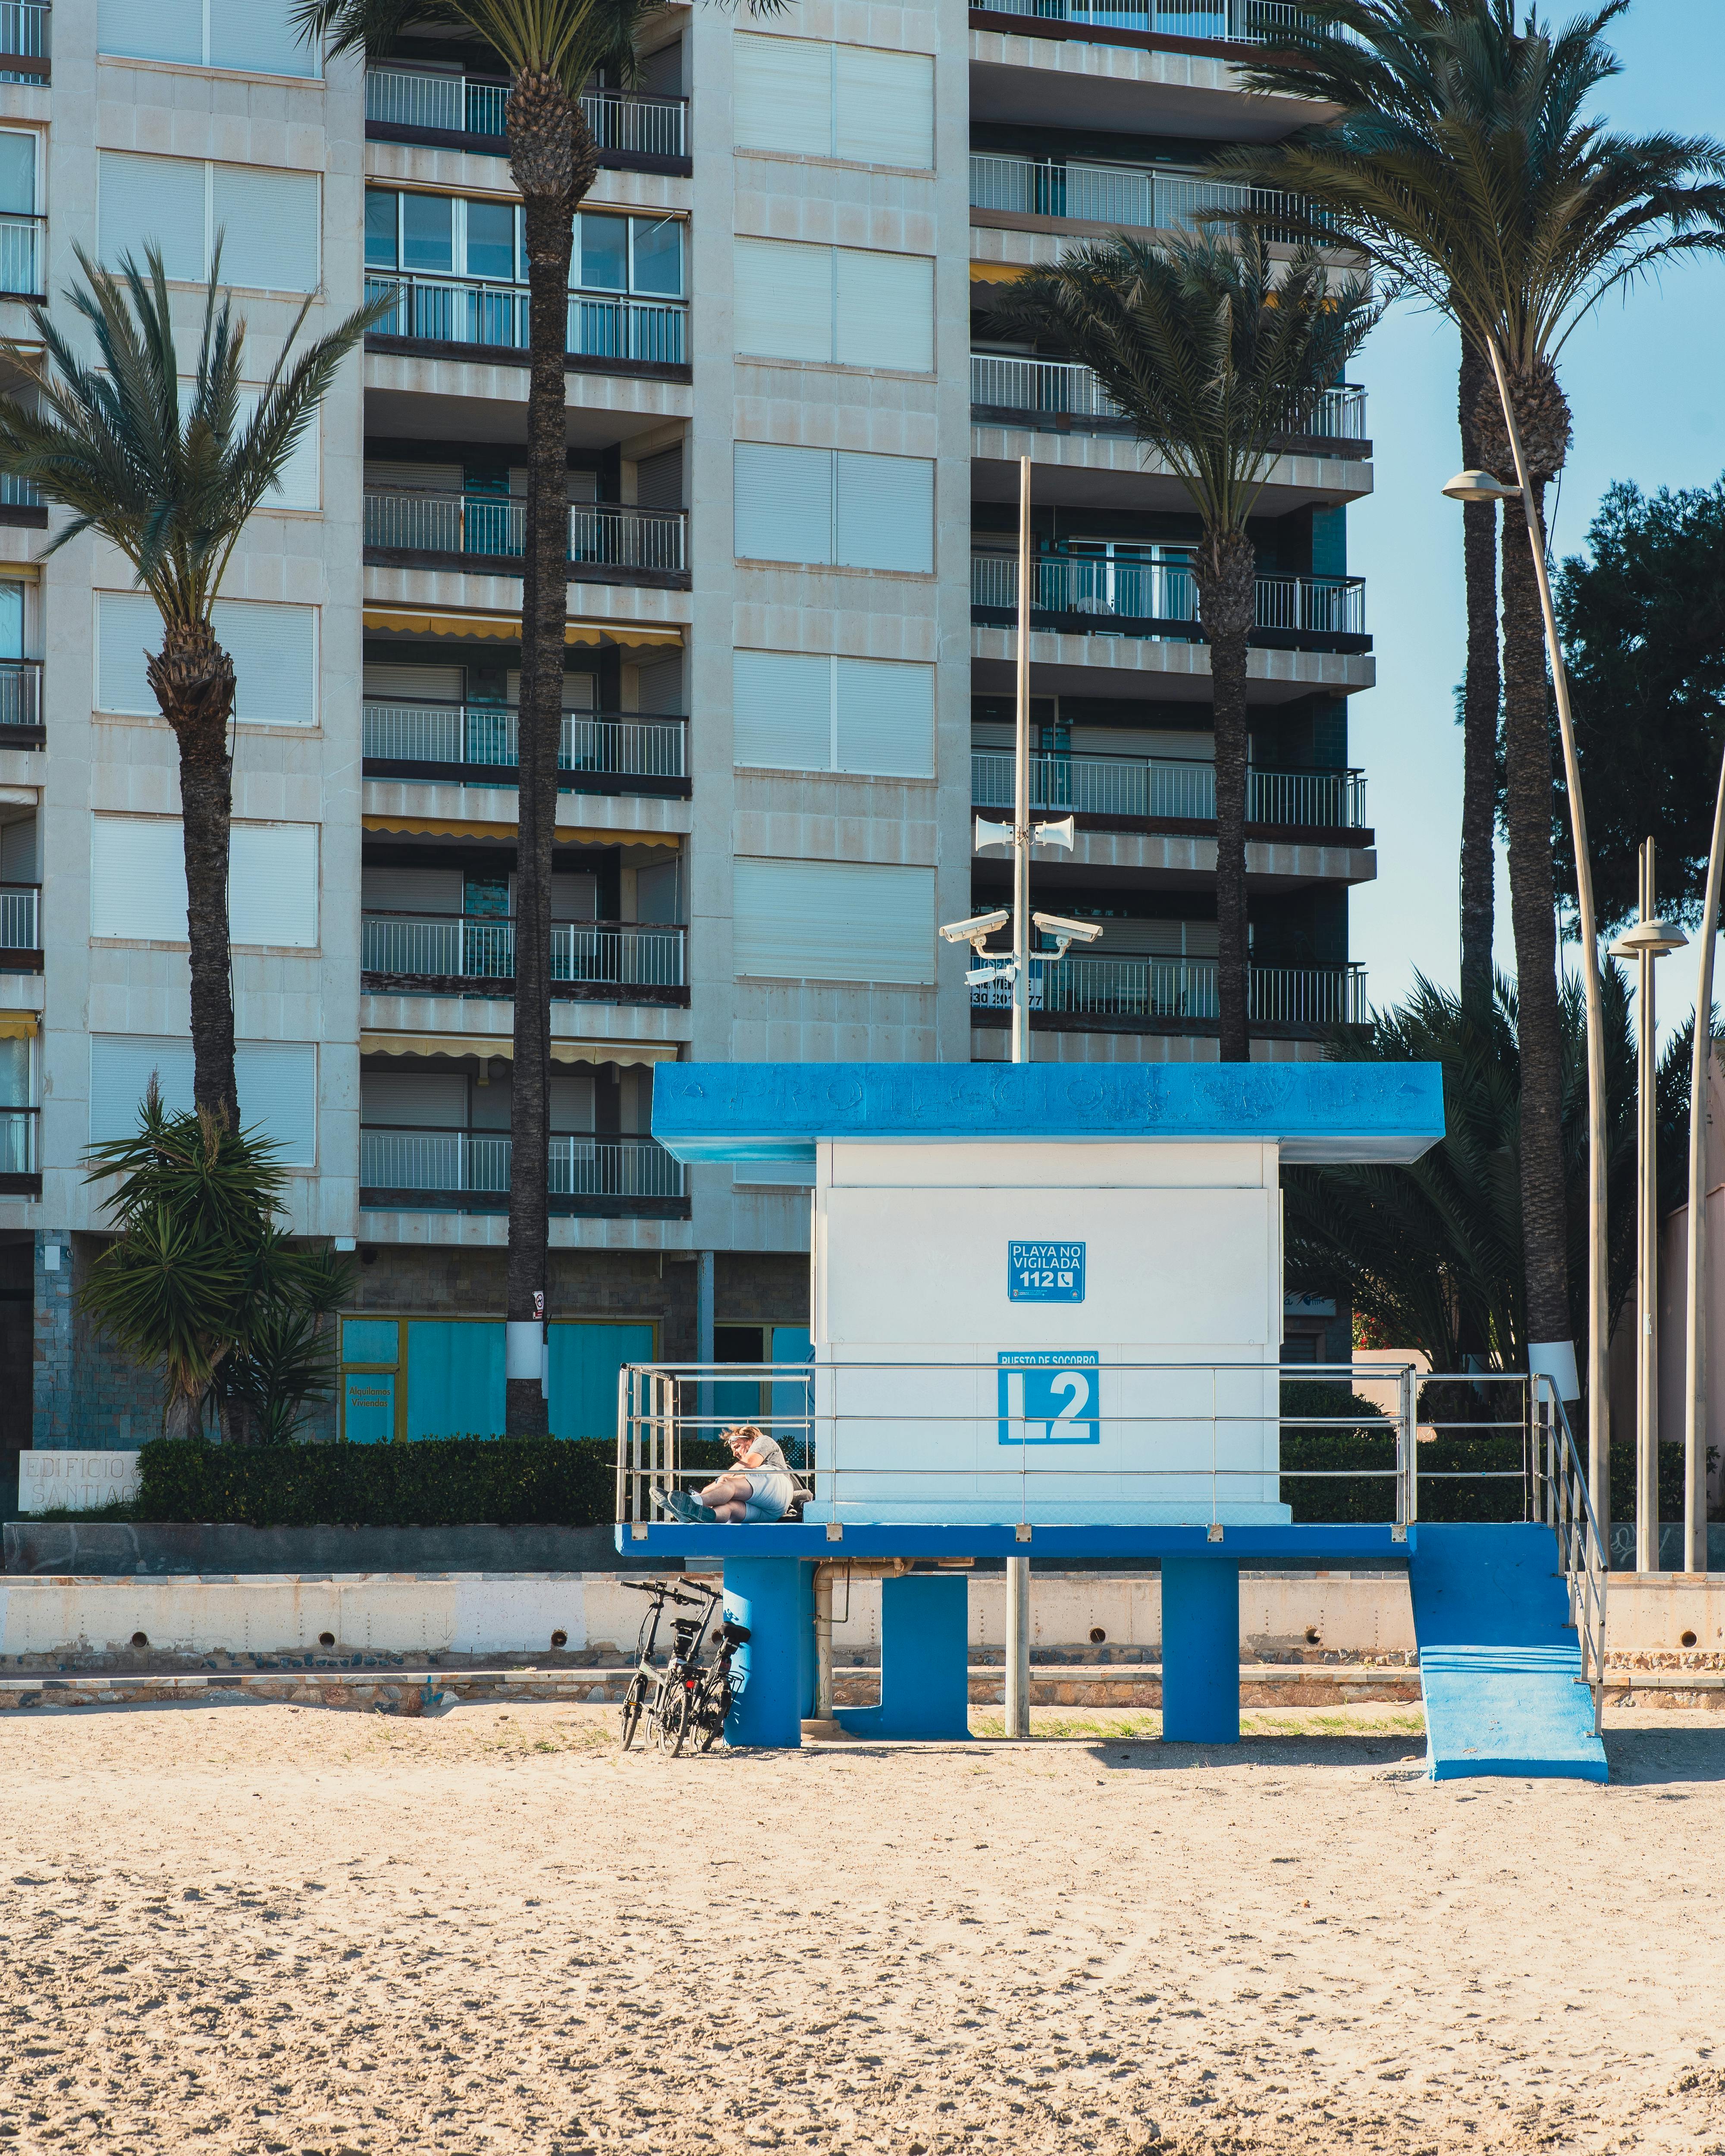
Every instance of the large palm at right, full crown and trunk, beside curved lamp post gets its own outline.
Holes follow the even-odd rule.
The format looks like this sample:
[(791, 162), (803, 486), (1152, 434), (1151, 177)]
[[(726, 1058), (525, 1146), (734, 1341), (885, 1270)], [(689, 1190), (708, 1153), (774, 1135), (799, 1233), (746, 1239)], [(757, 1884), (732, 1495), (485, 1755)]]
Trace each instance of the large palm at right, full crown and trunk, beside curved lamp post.
[[(1675, 254), (1725, 250), (1725, 149), (1615, 136), (1583, 108), (1617, 71), (1602, 43), (1628, 0), (1552, 32), (1516, 0), (1309, 0), (1289, 58), (1264, 82), (1330, 97), (1341, 119), (1231, 168), (1305, 196), (1281, 224), (1358, 250), (1395, 289), (1447, 313), (1464, 345), (1503, 358), (1535, 513), (1563, 470), (1570, 407), (1557, 358), (1613, 289)], [(1335, 32), (1343, 32), (1337, 37)], [(1343, 47), (1356, 41), (1380, 67)], [(1283, 73), (1287, 69), (1287, 73)], [(1361, 71), (1363, 69), (1363, 71)], [(1404, 93), (1402, 78), (1427, 86)], [(1514, 476), (1490, 375), (1475, 405), (1481, 464)], [(1544, 621), (1529, 548), (1503, 548), (1503, 746), (1520, 1028), (1527, 1337), (1574, 1339), (1563, 1233), (1563, 1044), (1550, 847), (1552, 765)]]

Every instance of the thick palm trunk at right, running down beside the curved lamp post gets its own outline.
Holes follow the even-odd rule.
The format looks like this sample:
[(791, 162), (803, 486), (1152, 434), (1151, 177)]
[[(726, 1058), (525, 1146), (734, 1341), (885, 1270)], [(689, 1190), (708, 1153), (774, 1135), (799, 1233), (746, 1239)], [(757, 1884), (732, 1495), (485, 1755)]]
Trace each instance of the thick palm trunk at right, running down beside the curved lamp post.
[[(1544, 483), (1533, 498), (1544, 530)], [(1516, 929), (1520, 1179), (1527, 1339), (1568, 1341), (1570, 1263), (1563, 1194), (1563, 1035), (1557, 998), (1557, 893), (1550, 858), (1552, 770), (1546, 627), (1524, 545), (1503, 548), (1503, 748), (1509, 916)]]

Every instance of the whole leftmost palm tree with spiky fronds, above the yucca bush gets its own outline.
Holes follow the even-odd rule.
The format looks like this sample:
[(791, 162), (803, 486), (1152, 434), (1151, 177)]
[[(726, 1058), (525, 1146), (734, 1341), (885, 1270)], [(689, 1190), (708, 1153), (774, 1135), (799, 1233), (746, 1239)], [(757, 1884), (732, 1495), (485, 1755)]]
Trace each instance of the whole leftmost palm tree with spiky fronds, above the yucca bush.
[(34, 410), (0, 399), (0, 470), (30, 479), (71, 511), (45, 552), (97, 533), (132, 563), (162, 612), (149, 686), (179, 744), (185, 839), (185, 940), (192, 957), (192, 1097), (239, 1128), (229, 979), (229, 824), (233, 817), (233, 660), (216, 640), (211, 606), (239, 533), (276, 485), (313, 423), (336, 367), (375, 317), (349, 315), (328, 336), (293, 345), (300, 308), (250, 418), (242, 418), (246, 323), (220, 293), (220, 246), (209, 274), (196, 375), (181, 390), (179, 349), (162, 254), (127, 259), (119, 276), (78, 250), (82, 289), (67, 300), (95, 338), (86, 364), (32, 308), (41, 354), (6, 349), (28, 377)]

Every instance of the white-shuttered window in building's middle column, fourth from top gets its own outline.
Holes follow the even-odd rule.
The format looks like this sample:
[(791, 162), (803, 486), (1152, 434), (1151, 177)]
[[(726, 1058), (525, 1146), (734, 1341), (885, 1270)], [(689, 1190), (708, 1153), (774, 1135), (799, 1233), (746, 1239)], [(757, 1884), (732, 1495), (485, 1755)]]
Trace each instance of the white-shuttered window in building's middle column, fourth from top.
[(802, 651), (733, 653), (737, 763), (934, 778), (934, 668)]

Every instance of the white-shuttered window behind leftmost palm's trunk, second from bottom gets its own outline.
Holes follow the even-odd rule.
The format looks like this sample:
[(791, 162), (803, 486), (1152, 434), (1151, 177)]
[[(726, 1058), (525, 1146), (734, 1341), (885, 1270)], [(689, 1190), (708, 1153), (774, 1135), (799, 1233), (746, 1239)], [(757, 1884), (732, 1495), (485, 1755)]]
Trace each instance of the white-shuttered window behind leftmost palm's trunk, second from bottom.
[[(185, 942), (179, 817), (91, 819), (91, 936)], [(317, 944), (317, 824), (235, 824), (229, 936), (237, 944)]]

